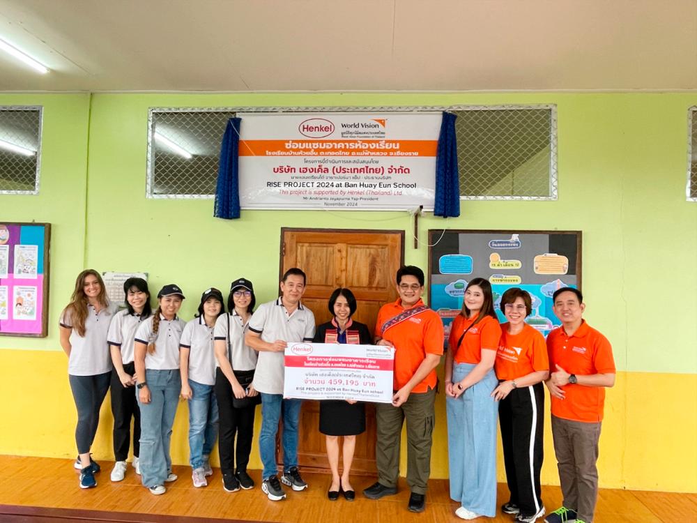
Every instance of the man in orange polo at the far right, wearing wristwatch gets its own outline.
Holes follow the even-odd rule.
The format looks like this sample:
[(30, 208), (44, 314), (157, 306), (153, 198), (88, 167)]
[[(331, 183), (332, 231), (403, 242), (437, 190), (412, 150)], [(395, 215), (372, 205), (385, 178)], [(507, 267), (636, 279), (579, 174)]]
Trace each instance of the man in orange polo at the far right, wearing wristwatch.
[(615, 384), (612, 347), (583, 319), (585, 303), (578, 289), (558, 289), (552, 297), (562, 326), (547, 336), (546, 381), (552, 404), (552, 437), (563, 504), (546, 523), (591, 523), (598, 496), (598, 440), (605, 387)]

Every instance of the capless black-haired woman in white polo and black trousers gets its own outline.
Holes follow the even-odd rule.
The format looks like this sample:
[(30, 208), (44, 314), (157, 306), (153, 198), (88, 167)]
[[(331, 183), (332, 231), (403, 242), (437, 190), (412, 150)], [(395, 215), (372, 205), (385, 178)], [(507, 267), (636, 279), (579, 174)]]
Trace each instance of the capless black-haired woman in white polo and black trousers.
[(126, 459), (130, 447), (130, 424), (133, 420), (133, 468), (137, 473), (140, 455), (140, 409), (133, 392), (135, 363), (133, 342), (140, 324), (151, 317), (148, 282), (143, 278), (128, 278), (123, 282), (126, 308), (116, 312), (109, 325), (107, 341), (112, 352), (112, 414), (114, 415), (114, 469), (112, 481), (125, 477)]

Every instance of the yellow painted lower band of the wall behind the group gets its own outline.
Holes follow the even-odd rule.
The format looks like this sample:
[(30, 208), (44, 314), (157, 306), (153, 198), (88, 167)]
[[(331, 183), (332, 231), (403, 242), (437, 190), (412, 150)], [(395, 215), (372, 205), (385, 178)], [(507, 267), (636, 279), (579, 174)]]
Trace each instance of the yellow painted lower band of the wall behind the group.
[[(70, 393), (67, 358), (62, 351), (0, 350), (0, 406), (3, 431), (0, 453), (72, 457), (75, 450), (75, 404)], [(441, 367), (442, 374), (442, 367)], [(546, 398), (542, 483), (558, 485)], [(171, 454), (187, 464), (188, 410), (182, 402), (174, 423)], [(261, 410), (255, 434), (259, 434)], [(97, 460), (113, 460), (113, 418), (109, 397), (102, 406), (93, 446)], [(608, 391), (598, 469), (605, 488), (697, 492), (697, 375), (620, 372)], [(406, 472), (403, 441), (401, 473)], [(217, 451), (211, 456), (217, 465)], [(257, 439), (250, 468), (261, 468)], [(447, 478), (447, 432), (443, 394), (436, 402), (436, 430), (431, 477)], [(505, 481), (499, 447), (498, 480)]]

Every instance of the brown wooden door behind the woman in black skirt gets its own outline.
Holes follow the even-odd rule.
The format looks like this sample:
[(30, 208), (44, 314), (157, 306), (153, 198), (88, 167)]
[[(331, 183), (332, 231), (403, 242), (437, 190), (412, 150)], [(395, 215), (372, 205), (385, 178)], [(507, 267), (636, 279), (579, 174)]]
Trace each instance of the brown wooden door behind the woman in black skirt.
[[(337, 287), (351, 289), (358, 302), (353, 315), (372, 333), (378, 310), (397, 299), (395, 273), (404, 263), (404, 232), (337, 229), (282, 229), (281, 275), (291, 267), (307, 274), (302, 304), (316, 324), (332, 319), (329, 296)], [(319, 402), (305, 400), (300, 414), (298, 464), (328, 470), (324, 435), (319, 432)], [(351, 471), (374, 473), (375, 407), (366, 405), (366, 431), (356, 439)]]

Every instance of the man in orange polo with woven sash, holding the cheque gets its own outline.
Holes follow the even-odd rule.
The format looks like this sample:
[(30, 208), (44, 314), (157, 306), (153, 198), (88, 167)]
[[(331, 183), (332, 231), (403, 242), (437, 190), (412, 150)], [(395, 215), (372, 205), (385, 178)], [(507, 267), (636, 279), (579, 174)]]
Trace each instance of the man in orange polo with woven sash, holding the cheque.
[(435, 422), (436, 366), (443, 355), (443, 322), (421, 300), (424, 272), (413, 265), (397, 271), (395, 303), (383, 305), (375, 325), (375, 343), (395, 347), (392, 404), (375, 407), (378, 481), (365, 489), (370, 499), (397, 494), (399, 443), (406, 418), (406, 482), (411, 488), (408, 509), (422, 512), (431, 473), (431, 443)]

